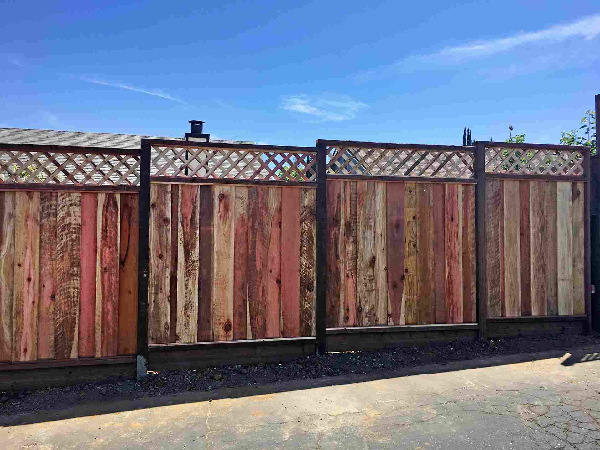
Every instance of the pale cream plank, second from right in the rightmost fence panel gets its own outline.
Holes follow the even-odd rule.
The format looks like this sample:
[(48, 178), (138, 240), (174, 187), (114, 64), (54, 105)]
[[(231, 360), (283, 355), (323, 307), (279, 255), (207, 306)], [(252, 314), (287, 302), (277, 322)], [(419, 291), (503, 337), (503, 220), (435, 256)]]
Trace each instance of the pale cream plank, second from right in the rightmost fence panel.
[(556, 239), (559, 316), (573, 314), (573, 217), (570, 182), (556, 184)]

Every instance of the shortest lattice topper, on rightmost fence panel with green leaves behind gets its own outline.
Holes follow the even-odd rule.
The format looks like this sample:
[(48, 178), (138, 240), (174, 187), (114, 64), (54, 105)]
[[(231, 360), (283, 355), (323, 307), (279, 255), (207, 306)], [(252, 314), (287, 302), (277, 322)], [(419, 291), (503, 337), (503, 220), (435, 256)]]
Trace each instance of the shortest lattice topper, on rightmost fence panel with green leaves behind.
[(485, 172), (583, 176), (583, 154), (560, 149), (485, 148)]

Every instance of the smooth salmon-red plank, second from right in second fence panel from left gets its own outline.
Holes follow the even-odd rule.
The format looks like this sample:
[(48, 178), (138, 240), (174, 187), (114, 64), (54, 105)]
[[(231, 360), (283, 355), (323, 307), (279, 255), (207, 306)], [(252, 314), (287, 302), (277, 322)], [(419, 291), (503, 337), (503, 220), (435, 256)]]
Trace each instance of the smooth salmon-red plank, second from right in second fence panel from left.
[(281, 337), (300, 336), (301, 202), (298, 188), (281, 188)]

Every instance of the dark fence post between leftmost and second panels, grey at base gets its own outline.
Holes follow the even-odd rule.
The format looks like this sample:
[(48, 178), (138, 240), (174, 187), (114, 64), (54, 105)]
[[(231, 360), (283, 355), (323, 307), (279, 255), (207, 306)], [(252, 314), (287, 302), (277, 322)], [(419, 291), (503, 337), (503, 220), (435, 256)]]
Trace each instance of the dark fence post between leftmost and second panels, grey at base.
[(150, 244), (150, 143), (140, 143), (140, 244), (137, 295), (137, 379), (148, 367), (148, 259)]

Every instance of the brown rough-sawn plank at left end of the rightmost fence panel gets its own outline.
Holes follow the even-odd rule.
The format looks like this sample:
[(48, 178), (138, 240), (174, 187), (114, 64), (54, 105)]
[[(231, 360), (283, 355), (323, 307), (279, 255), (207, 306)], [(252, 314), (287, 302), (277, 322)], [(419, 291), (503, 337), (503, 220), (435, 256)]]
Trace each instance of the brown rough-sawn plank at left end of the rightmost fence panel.
[[(485, 214), (487, 223), (485, 236), (487, 241), (487, 312), (488, 317), (500, 317), (502, 304), (503, 278), (500, 276), (500, 223), (502, 217), (502, 181), (491, 179), (486, 182)], [(448, 221), (446, 221), (448, 223)]]

